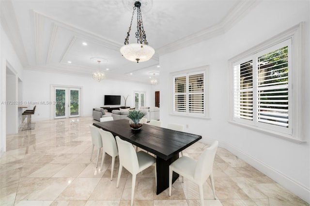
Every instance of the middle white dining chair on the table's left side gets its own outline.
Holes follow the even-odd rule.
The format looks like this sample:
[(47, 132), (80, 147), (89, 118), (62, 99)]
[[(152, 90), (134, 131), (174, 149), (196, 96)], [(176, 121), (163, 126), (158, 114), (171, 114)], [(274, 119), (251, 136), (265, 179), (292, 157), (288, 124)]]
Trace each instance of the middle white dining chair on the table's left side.
[(103, 162), (105, 160), (106, 153), (112, 157), (112, 163), (111, 163), (111, 181), (113, 177), (113, 171), (114, 171), (114, 163), (115, 158), (118, 156), (118, 149), (116, 145), (116, 140), (111, 132), (99, 129), (99, 132), (101, 134), (103, 148), (102, 148), (102, 160), (101, 160), (101, 169)]

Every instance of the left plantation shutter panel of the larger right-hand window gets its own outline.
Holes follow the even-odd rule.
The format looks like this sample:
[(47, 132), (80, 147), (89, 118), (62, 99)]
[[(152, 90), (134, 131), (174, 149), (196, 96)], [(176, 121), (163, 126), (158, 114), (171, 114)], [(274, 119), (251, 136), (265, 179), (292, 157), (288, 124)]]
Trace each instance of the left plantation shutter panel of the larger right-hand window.
[(253, 120), (253, 61), (234, 66), (234, 118)]

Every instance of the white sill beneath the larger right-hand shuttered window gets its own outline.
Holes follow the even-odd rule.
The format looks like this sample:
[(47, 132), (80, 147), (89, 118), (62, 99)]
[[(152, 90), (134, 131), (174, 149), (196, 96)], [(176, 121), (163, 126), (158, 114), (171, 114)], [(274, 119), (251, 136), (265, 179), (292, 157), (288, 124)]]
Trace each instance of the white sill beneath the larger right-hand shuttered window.
[(267, 130), (267, 129), (251, 126), (251, 125), (248, 125), (248, 124), (243, 124), (243, 123), (240, 123), (240, 122), (232, 121), (232, 120), (229, 120), (228, 122), (231, 123), (231, 124), (234, 124), (234, 125), (238, 125), (238, 126), (247, 128), (247, 129), (263, 132), (263, 133), (266, 133), (266, 134), (271, 134), (272, 136), (279, 137), (281, 139), (288, 140), (288, 141), (291, 141), (291, 142), (294, 142), (294, 143), (297, 143), (297, 144), (302, 144), (302, 143), (306, 142), (306, 141), (304, 141), (302, 139), (294, 138), (292, 135), (289, 135), (289, 134), (284, 134), (284, 133), (281, 133), (281, 132)]

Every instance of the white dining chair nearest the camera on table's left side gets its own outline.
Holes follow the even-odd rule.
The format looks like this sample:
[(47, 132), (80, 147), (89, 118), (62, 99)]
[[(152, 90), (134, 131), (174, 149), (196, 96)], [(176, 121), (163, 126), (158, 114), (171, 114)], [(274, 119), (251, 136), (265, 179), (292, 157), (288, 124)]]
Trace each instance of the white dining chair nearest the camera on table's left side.
[[(116, 143), (119, 152), (120, 167), (118, 171), (116, 188), (118, 188), (120, 183), (120, 178), (122, 174), (123, 167), (132, 174), (132, 184), (131, 184), (131, 206), (134, 203), (134, 194), (136, 186), (136, 176), (141, 171), (152, 166), (156, 163), (156, 158), (144, 151), (136, 152), (131, 143), (122, 140), (119, 136), (116, 136)], [(156, 176), (156, 164), (155, 164), (155, 182), (157, 182)], [(153, 191), (150, 191), (153, 192)]]

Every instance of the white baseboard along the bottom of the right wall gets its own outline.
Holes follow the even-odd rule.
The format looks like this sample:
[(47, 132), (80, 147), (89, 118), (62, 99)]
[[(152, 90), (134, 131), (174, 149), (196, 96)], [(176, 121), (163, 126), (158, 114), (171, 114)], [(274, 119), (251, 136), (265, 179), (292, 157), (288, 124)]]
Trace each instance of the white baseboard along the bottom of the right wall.
[[(202, 138), (201, 140), (203, 143), (210, 144), (213, 139), (206, 139)], [(228, 151), (232, 152), (234, 155), (242, 159), (243, 161), (247, 162), (249, 165), (254, 167), (255, 169), (262, 172), (264, 175), (270, 177), (271, 179), (275, 180), (285, 189), (291, 191), (307, 203), (310, 203), (310, 189), (306, 188), (305, 186), (301, 185), (300, 183), (294, 181), (290, 177), (282, 174), (281, 172), (275, 170), (274, 168), (270, 167), (269, 165), (255, 159), (254, 157), (248, 155), (244, 151), (238, 149), (237, 147), (233, 147), (231, 144), (228, 144), (223, 141), (218, 141), (218, 146), (227, 149)]]

